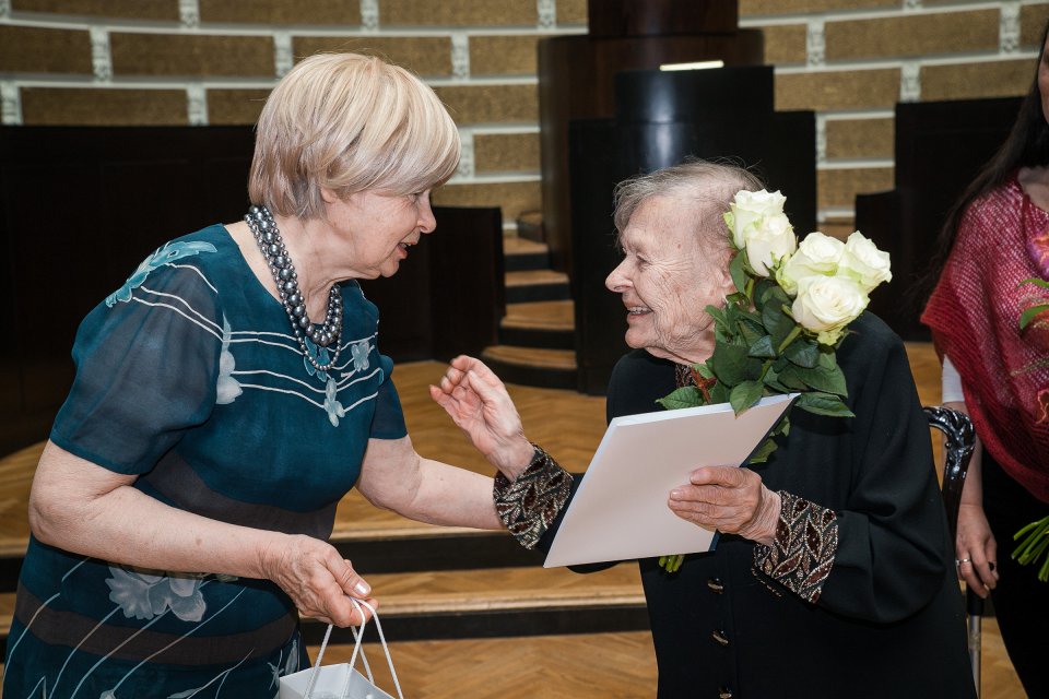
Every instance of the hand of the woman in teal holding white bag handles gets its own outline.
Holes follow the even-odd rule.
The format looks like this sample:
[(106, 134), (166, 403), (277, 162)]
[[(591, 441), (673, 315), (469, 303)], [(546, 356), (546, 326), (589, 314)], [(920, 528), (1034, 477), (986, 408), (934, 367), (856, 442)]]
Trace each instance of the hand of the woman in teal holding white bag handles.
[[(288, 594), (303, 616), (340, 628), (360, 626), (372, 615), (357, 611), (350, 596), (373, 607), (372, 588), (354, 572), (350, 561), (330, 544), (311, 536), (284, 536), (262, 556), (266, 577)], [(362, 618), (362, 614), (364, 618)]]

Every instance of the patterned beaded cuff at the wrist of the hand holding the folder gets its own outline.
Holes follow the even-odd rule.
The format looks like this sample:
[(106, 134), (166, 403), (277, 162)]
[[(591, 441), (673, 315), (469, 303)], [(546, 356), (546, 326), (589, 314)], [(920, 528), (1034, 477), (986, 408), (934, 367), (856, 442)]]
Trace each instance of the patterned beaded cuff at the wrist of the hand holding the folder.
[(834, 510), (779, 491), (782, 508), (771, 546), (754, 547), (754, 571), (762, 572), (815, 603), (834, 567), (838, 550), (838, 517)]

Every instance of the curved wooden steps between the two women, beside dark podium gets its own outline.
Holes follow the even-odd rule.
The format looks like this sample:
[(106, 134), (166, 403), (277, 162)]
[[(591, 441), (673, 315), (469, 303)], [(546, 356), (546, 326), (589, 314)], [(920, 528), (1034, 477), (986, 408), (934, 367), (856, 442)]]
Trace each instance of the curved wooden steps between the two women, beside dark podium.
[(506, 317), (499, 344), (482, 359), (506, 382), (576, 389), (574, 307), (568, 276), (549, 269), (542, 242), (507, 237)]

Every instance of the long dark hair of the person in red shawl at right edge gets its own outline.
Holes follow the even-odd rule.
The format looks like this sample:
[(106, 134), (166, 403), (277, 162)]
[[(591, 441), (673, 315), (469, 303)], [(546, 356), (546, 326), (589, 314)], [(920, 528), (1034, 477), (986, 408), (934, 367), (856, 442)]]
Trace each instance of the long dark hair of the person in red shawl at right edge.
[(1019, 106), (1016, 121), (1005, 139), (1005, 143), (998, 150), (987, 165), (980, 169), (976, 178), (962, 193), (958, 201), (947, 212), (947, 220), (940, 230), (936, 254), (929, 264), (929, 271), (919, 283), (920, 300), (924, 304), (936, 282), (940, 273), (951, 256), (954, 240), (958, 236), (958, 226), (962, 217), (974, 201), (991, 190), (1001, 187), (1021, 167), (1034, 167), (1049, 164), (1049, 123), (1041, 108), (1041, 91), (1038, 90), (1038, 70), (1046, 50), (1046, 38), (1049, 37), (1049, 22), (1041, 31), (1041, 44), (1038, 49), (1038, 63), (1035, 66), (1035, 78), (1030, 90)]

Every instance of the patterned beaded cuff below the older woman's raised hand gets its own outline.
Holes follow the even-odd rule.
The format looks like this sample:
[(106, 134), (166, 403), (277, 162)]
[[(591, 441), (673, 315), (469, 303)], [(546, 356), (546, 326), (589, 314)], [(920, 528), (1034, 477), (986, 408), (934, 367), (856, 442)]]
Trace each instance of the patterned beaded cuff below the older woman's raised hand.
[(496, 474), (493, 495), (499, 519), (524, 548), (534, 548), (568, 500), (571, 476), (540, 447), (514, 483)]

